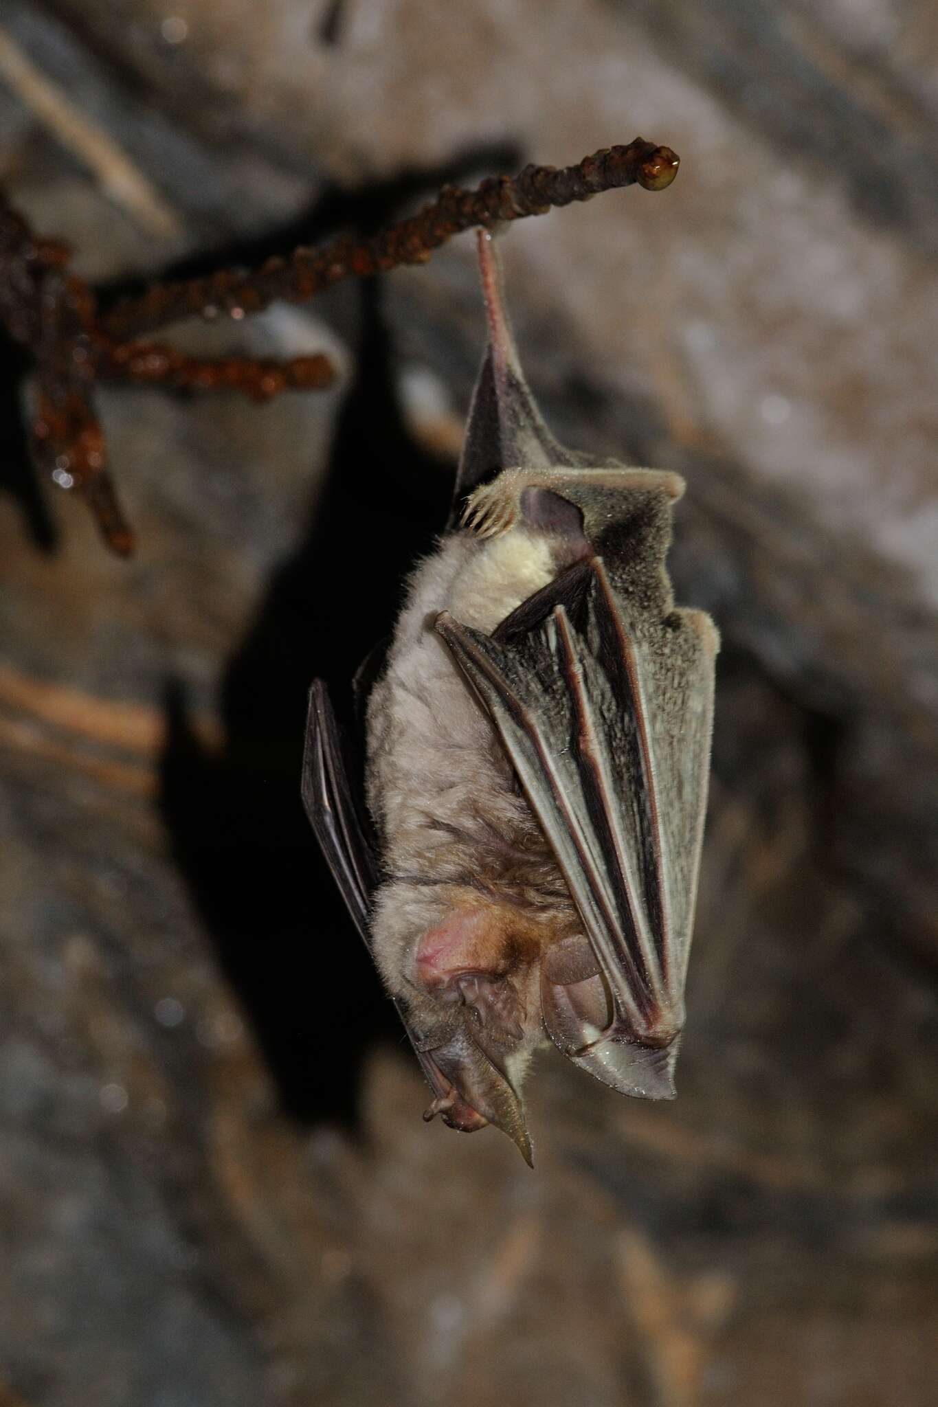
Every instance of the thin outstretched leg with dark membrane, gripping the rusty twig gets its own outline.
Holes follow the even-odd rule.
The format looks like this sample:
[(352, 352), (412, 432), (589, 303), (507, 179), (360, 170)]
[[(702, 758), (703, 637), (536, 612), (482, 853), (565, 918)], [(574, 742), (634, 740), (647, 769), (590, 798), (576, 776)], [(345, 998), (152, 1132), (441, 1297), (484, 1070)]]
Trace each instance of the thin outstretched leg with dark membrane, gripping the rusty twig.
[(582, 461), (550, 433), (525, 380), (505, 311), (499, 259), (485, 229), (478, 231), (478, 263), (488, 348), (473, 393), (456, 474), (454, 518), (465, 495), (503, 469), (548, 469)]

